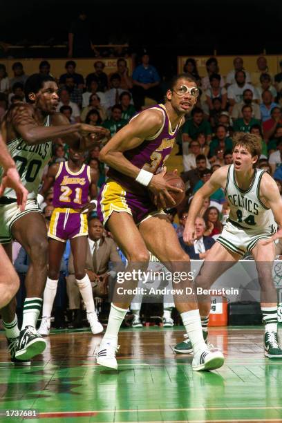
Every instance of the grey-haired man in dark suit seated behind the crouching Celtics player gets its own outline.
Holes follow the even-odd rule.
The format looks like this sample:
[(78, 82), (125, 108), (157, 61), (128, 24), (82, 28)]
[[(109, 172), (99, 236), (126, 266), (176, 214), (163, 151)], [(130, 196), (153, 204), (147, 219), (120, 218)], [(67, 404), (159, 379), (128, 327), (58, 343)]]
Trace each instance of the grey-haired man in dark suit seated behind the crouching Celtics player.
[(212, 248), (214, 238), (211, 236), (204, 236), (206, 230), (205, 220), (198, 216), (195, 219), (195, 241), (193, 245), (187, 245), (183, 241), (182, 236), (179, 238), (182, 249), (189, 255), (191, 260), (205, 259), (207, 252)]

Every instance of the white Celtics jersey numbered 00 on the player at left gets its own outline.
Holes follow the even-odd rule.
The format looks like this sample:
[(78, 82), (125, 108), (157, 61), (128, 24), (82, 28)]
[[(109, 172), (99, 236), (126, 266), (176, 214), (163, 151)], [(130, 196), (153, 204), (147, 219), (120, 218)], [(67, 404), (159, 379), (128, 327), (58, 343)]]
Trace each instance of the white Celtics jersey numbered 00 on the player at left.
[[(50, 126), (50, 116), (47, 116), (44, 126)], [(15, 161), (22, 184), (28, 190), (28, 198), (35, 198), (44, 167), (51, 158), (52, 142), (28, 145), (22, 138), (15, 138), (7, 143), (7, 148)], [(3, 169), (0, 168), (0, 180), (2, 176)], [(11, 188), (6, 188), (3, 196), (17, 198), (15, 191)]]

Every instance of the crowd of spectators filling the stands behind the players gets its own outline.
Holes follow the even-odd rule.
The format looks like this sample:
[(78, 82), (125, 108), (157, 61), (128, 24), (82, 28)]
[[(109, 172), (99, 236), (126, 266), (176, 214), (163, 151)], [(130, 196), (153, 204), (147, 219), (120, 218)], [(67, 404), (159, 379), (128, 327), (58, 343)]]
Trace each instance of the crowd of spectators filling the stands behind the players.
[[(121, 57), (117, 61), (115, 73), (107, 75), (104, 72), (104, 62), (102, 59), (97, 59), (94, 62), (93, 73), (80, 75), (76, 72), (75, 62), (68, 60), (65, 72), (57, 78), (59, 86), (57, 111), (64, 113), (71, 124), (86, 122), (102, 125), (109, 129), (113, 136), (137, 111), (146, 107), (148, 99), (153, 104), (162, 102), (164, 98), (158, 71), (149, 61), (149, 55), (144, 54), (141, 64), (134, 69), (133, 75), (129, 75), (126, 60)], [(196, 107), (191, 115), (187, 116), (176, 141), (179, 147), (178, 155), (182, 156), (181, 177), (185, 182), (186, 197), (178, 209), (168, 210), (167, 216), (176, 229), (181, 245), (192, 259), (205, 258), (207, 250), (212, 247), (214, 240), (222, 232), (228, 217), (229, 209), (224, 192), (218, 189), (210, 198), (205, 199), (196, 221), (197, 239), (194, 247), (188, 248), (183, 243), (183, 229), (189, 203), (194, 194), (209, 180), (218, 167), (232, 164), (232, 134), (234, 132), (250, 132), (261, 136), (262, 154), (258, 166), (266, 169), (276, 180), (282, 195), (282, 61), (280, 62), (281, 72), (277, 75), (269, 73), (265, 57), (259, 57), (256, 64), (256, 72), (249, 73), (243, 66), (243, 59), (235, 57), (234, 68), (230, 69), (226, 77), (220, 75), (215, 57), (207, 60), (205, 77), (200, 77), (196, 61), (192, 58), (187, 59), (183, 69), (184, 73), (198, 84), (200, 95)], [(13, 64), (12, 71), (14, 76), (8, 79), (5, 66), (0, 64), (0, 120), (11, 104), (25, 101), (23, 84), (28, 76), (20, 62)], [(39, 70), (35, 69), (35, 71), (52, 75), (50, 64), (45, 60), (39, 65)], [(99, 160), (100, 148), (99, 144), (93, 146), (85, 158), (85, 162), (97, 173), (97, 191), (106, 180), (107, 171)], [(54, 144), (53, 158), (50, 163), (65, 160), (68, 160), (68, 146), (63, 140), (58, 139)], [(44, 174), (46, 175), (46, 172)], [(42, 205), (46, 225), (53, 211), (52, 202), (53, 192), (50, 190)], [(90, 226), (92, 220), (96, 226), (99, 226), (95, 212), (89, 216)], [(111, 238), (111, 234), (105, 232), (102, 225), (100, 229), (96, 227), (92, 232), (96, 234), (96, 238), (97, 234), (103, 240)], [(91, 240), (95, 241), (95, 236), (89, 237), (90, 243)], [(115, 245), (113, 240), (111, 244)], [(113, 260), (116, 249), (116, 245), (108, 249), (107, 265)], [(24, 274), (28, 266), (28, 257), (21, 251), (22, 249), (19, 250), (19, 246), (15, 246), (14, 250), (16, 269), (20, 274)], [(69, 289), (66, 283), (66, 276), (71, 274), (69, 253), (67, 246), (64, 263), (62, 262), (62, 285), (60, 285), (61, 288), (57, 294), (59, 299), (56, 300), (55, 305), (57, 304), (56, 307), (60, 310), (62, 308), (66, 310), (66, 292), (68, 291), (68, 303), (74, 305), (73, 309), (69, 308), (69, 310), (75, 310), (73, 319), (70, 321), (73, 327), (79, 327), (82, 323), (77, 306), (79, 303), (77, 290)], [(122, 252), (119, 254), (120, 260), (124, 260)], [(105, 267), (105, 263), (103, 266)], [(93, 272), (93, 269), (88, 270)], [(97, 276), (97, 269), (95, 274)], [(93, 280), (93, 289), (97, 287), (99, 280), (98, 274), (98, 278)], [(102, 288), (103, 295), (101, 294), (100, 297), (104, 298), (104, 285)], [(18, 299), (19, 308), (20, 303), (21, 299)], [(59, 316), (61, 314), (59, 313)], [(65, 317), (58, 319), (57, 327), (64, 326), (64, 319)]]

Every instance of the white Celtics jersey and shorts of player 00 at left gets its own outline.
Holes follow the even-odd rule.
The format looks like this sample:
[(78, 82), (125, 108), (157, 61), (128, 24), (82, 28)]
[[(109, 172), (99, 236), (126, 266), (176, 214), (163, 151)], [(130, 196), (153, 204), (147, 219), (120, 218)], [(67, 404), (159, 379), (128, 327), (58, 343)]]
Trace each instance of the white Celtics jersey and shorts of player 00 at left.
[[(47, 116), (44, 126), (50, 126), (50, 116)], [(41, 182), (44, 167), (51, 158), (52, 142), (44, 144), (28, 145), (22, 138), (15, 138), (7, 143), (10, 156), (15, 161), (21, 182), (28, 190), (26, 209), (21, 212), (17, 206), (17, 195), (11, 188), (6, 188), (0, 198), (0, 244), (12, 241), (12, 224), (30, 212), (39, 212), (36, 196)], [(3, 169), (0, 168), (0, 181), (3, 177)]]

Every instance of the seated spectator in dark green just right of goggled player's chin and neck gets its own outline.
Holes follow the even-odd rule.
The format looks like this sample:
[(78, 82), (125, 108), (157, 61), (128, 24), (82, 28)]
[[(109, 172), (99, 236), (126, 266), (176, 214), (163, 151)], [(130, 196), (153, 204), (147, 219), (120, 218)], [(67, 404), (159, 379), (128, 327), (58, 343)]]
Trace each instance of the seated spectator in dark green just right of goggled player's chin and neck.
[(187, 120), (182, 126), (182, 151), (183, 154), (189, 153), (189, 142), (196, 140), (198, 133), (204, 133), (207, 137), (207, 143), (212, 139), (212, 128), (207, 120), (204, 120), (203, 110), (195, 107), (191, 111), (192, 118)]

